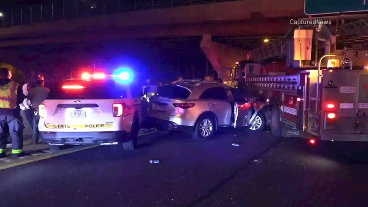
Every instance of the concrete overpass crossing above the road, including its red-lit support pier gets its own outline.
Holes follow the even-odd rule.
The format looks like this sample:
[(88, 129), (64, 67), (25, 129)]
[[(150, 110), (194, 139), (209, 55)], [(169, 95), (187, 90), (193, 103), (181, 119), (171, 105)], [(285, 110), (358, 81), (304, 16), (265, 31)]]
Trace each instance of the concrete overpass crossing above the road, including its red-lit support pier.
[[(176, 1), (178, 0), (171, 0), (171, 3)], [(205, 1), (191, 1), (195, 2)], [(280, 35), (292, 27), (291, 18), (298, 18), (304, 14), (304, 0), (211, 2), (160, 9), (153, 7), (144, 11), (1, 28), (0, 48), (47, 43), (205, 35), (201, 48), (217, 70), (219, 67), (230, 67), (234, 62), (245, 58), (247, 51), (212, 42), (212, 36)], [(152, 1), (152, 5), (154, 3), (155, 0)], [(53, 14), (56, 13), (54, 10)], [(24, 17), (21, 19), (25, 21)], [(0, 54), (4, 52), (0, 51)]]

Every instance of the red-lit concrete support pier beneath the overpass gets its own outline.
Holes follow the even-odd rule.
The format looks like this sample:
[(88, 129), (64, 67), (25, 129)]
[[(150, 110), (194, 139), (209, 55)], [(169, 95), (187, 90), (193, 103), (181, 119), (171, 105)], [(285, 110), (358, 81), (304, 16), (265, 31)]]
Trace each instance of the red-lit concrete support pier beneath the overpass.
[(212, 67), (219, 74), (219, 77), (223, 78), (223, 81), (230, 80), (231, 72), (223, 69), (232, 68), (236, 62), (247, 58), (246, 50), (213, 42), (210, 34), (202, 36), (201, 49), (212, 64)]

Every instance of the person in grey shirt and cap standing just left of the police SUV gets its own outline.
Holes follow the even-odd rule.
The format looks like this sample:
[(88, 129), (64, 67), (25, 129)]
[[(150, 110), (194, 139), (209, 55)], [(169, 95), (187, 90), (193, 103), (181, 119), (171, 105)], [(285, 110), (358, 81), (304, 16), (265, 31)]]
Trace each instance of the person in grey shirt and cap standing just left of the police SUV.
[(32, 103), (31, 112), (33, 112), (32, 117), (32, 144), (38, 144), (39, 141), (39, 131), (38, 122), (40, 116), (38, 115), (38, 106), (46, 100), (49, 95), (50, 89), (45, 87), (45, 77), (42, 75), (38, 76), (36, 87), (31, 88), (28, 92), (28, 99)]

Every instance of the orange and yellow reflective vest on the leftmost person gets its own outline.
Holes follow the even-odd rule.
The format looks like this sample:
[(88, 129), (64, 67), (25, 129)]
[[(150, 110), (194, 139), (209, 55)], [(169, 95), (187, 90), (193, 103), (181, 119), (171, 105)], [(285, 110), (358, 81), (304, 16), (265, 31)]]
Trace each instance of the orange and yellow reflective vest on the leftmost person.
[(17, 108), (17, 93), (20, 84), (10, 81), (6, 85), (0, 86), (0, 108), (15, 109)]

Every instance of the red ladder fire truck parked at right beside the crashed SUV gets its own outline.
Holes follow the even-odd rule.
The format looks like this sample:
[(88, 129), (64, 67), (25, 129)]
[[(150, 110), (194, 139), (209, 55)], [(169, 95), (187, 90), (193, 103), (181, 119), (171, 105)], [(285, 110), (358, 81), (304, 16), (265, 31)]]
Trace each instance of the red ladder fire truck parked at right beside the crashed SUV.
[(265, 116), (275, 136), (368, 141), (368, 53), (336, 50), (335, 36), (319, 32), (299, 28), (251, 51), (252, 61), (236, 66), (238, 87), (268, 103)]

